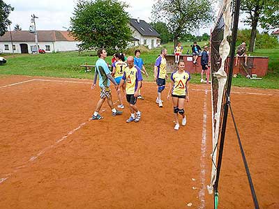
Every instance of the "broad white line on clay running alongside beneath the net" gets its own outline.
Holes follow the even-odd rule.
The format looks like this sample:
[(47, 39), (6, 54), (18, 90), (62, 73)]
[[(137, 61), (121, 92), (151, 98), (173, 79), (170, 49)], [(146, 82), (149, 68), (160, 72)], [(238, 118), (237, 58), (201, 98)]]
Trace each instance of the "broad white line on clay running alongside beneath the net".
[(205, 89), (204, 93), (205, 93), (204, 94), (204, 120), (202, 122), (202, 146), (201, 146), (201, 159), (200, 159), (201, 173), (199, 175), (202, 183), (202, 189), (200, 189), (199, 191), (199, 200), (201, 201), (199, 208), (201, 209), (205, 207), (204, 190), (206, 188), (206, 184), (205, 184), (206, 166), (205, 166), (204, 159), (206, 155), (207, 88)]

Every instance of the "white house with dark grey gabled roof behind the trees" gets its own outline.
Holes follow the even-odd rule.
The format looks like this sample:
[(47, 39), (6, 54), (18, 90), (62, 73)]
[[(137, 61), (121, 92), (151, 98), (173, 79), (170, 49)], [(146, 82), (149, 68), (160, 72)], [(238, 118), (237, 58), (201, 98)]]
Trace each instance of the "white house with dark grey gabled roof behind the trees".
[(130, 18), (129, 26), (133, 32), (133, 39), (131, 41), (134, 46), (146, 45), (149, 49), (152, 49), (160, 45), (160, 34), (144, 20)]

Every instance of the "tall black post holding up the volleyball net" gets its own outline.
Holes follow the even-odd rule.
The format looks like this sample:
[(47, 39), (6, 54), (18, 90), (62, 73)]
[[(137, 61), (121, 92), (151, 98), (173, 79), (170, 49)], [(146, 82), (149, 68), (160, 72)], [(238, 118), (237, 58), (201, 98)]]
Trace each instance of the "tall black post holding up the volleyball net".
[(237, 36), (237, 29), (239, 26), (239, 10), (240, 10), (240, 1), (241, 0), (235, 0), (234, 4), (234, 24), (232, 28), (232, 45), (230, 47), (230, 59), (229, 59), (229, 75), (228, 75), (228, 80), (227, 80), (227, 95), (226, 97), (226, 102), (224, 106), (224, 117), (223, 117), (223, 123), (222, 123), (222, 131), (221, 131), (221, 137), (220, 137), (220, 148), (219, 148), (219, 153), (218, 153), (218, 165), (217, 165), (217, 172), (216, 172), (216, 183), (214, 185), (214, 190), (215, 192), (218, 193), (218, 183), (219, 183), (219, 178), (220, 178), (220, 169), (221, 169), (221, 164), (222, 164), (222, 157), (223, 157), (223, 149), (224, 149), (224, 142), (225, 142), (225, 132), (226, 132), (226, 127), (227, 127), (227, 113), (228, 113), (228, 107), (229, 107), (229, 96), (230, 96), (230, 91), (231, 91), (231, 86), (232, 86), (232, 73), (233, 73), (233, 68), (234, 68), (234, 52), (235, 52), (235, 47), (236, 47), (236, 36)]

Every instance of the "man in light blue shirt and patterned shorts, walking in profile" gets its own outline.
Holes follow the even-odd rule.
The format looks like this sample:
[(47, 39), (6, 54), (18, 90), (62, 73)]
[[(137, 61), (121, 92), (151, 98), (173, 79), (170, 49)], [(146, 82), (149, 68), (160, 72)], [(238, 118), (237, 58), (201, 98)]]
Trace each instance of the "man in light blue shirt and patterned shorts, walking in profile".
[(96, 110), (94, 111), (91, 120), (103, 119), (103, 117), (100, 116), (99, 111), (103, 103), (105, 102), (105, 98), (107, 98), (107, 104), (109, 104), (110, 108), (112, 109), (112, 116), (121, 115), (123, 113), (122, 111), (116, 110), (112, 102), (112, 91), (110, 90), (110, 81), (112, 82), (112, 84), (114, 84), (116, 90), (118, 88), (118, 85), (116, 84), (114, 78), (110, 74), (110, 69), (108, 68), (107, 63), (105, 62), (107, 52), (104, 48), (101, 48), (98, 49), (97, 54), (99, 59), (96, 61), (95, 77), (91, 89), (96, 88), (97, 76), (99, 75), (100, 100), (96, 105)]

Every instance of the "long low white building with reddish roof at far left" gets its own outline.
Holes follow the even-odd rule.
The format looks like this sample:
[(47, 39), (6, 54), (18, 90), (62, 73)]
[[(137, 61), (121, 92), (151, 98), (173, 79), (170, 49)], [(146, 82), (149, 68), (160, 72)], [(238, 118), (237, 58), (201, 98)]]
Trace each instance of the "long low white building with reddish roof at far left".
[[(38, 47), (44, 49), (45, 52), (78, 50), (77, 45), (80, 42), (70, 36), (68, 31), (37, 31), (37, 33)], [(8, 31), (0, 36), (0, 52), (3, 53), (31, 54), (34, 45), (36, 45), (35, 34), (29, 31)]]

